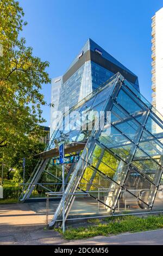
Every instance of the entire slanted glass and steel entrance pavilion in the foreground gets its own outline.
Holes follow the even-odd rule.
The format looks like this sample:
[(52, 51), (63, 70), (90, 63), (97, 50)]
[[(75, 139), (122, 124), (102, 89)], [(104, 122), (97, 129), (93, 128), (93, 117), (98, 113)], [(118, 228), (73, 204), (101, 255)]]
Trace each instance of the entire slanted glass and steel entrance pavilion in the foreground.
[[(92, 111), (97, 115), (92, 115)], [(74, 112), (76, 125), (67, 129)], [(152, 210), (161, 187), (162, 120), (156, 109), (120, 73), (116, 74), (58, 122), (45, 152), (40, 154), (41, 160), (28, 181), (22, 200), (30, 197), (41, 174), (55, 176), (53, 161), (59, 156), (59, 145), (64, 143), (66, 155), (79, 154), (78, 162), (67, 164), (66, 218), (72, 215), (77, 192), (85, 193), (83, 201), (79, 196), (80, 208), (81, 202), (83, 211), (87, 211), (89, 205), (90, 209), (96, 207), (97, 216), (101, 215), (101, 208), (104, 216), (120, 208), (127, 210), (128, 206), (133, 206), (135, 211)], [(82, 130), (78, 129), (81, 122)], [(99, 125), (101, 122), (103, 125)], [(91, 129), (87, 129), (90, 124)], [(61, 170), (57, 179), (53, 191), (61, 191)], [(89, 214), (83, 215), (90, 216), (90, 209)], [(79, 209), (76, 211), (77, 218)], [(49, 225), (61, 219), (62, 198)]]

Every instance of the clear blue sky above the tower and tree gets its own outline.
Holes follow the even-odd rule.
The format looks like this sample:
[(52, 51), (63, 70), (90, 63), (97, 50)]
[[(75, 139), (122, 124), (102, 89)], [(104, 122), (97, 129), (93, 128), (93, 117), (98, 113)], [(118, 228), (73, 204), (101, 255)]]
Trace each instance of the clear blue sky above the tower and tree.
[[(162, 0), (20, 0), (24, 10), (21, 36), (34, 55), (50, 63), (51, 78), (64, 74), (91, 38), (139, 76), (140, 90), (151, 102), (151, 17)], [(51, 102), (51, 84), (43, 86)], [(43, 117), (50, 124), (49, 107)]]

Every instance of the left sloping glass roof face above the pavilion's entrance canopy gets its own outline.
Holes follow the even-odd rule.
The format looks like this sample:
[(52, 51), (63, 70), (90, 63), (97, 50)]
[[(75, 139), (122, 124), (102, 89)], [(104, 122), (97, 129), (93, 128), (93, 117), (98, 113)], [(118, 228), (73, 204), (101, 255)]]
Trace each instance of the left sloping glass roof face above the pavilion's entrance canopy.
[(80, 132), (77, 129), (78, 127), (73, 127), (73, 129), (71, 129), (70, 126), (67, 129), (66, 117), (69, 114), (70, 118), (67, 121), (68, 123), (71, 122), (71, 113), (76, 111), (79, 113), (79, 116), (72, 116), (73, 123), (84, 123), (84, 120), (81, 120), (82, 116), (85, 115), (86, 118), (86, 115), (90, 111), (102, 111), (105, 101), (108, 99), (108, 97), (111, 95), (112, 91), (115, 88), (118, 76), (120, 76), (120, 74), (116, 74), (115, 76), (111, 77), (108, 81), (102, 84), (101, 87), (88, 95), (84, 100), (80, 101), (76, 106), (72, 107), (69, 112), (63, 114), (61, 120), (58, 123), (58, 126), (56, 127), (50, 139), (46, 150), (58, 147), (58, 145), (62, 143), (66, 144), (73, 142), (82, 142), (89, 137), (90, 132), (86, 130), (82, 130), (82, 132)]

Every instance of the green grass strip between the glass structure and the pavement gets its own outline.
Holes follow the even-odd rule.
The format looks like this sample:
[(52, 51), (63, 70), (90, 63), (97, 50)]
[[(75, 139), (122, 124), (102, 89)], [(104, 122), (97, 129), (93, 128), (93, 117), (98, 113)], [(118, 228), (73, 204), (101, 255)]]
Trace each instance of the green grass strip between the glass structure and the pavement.
[[(96, 219), (97, 220), (97, 219)], [(104, 223), (99, 221), (96, 225), (90, 225), (88, 227), (69, 228), (64, 233), (64, 238), (71, 239), (85, 239), (87, 237), (93, 237), (98, 235), (108, 236), (117, 235), (126, 232), (139, 232), (163, 228), (163, 215), (148, 216), (148, 217), (135, 217), (135, 216), (123, 216), (123, 217), (110, 217), (106, 218)], [(92, 223), (93, 224), (93, 223)], [(61, 229), (55, 229), (62, 233)]]

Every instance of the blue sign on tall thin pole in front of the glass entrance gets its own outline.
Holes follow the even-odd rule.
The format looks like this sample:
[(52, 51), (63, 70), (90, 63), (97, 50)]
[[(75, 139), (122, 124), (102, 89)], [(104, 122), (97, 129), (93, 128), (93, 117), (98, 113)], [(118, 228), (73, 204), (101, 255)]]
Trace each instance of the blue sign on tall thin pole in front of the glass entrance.
[(59, 147), (59, 162), (62, 164), (62, 230), (65, 232), (65, 166), (64, 166), (65, 152), (64, 144)]

